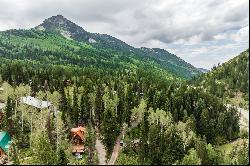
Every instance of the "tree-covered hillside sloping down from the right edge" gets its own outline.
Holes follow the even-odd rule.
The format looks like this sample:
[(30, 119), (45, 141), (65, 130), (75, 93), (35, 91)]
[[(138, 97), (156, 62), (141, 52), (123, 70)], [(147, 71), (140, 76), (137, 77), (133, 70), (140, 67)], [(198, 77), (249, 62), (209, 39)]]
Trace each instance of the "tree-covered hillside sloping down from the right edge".
[(231, 104), (249, 108), (249, 49), (191, 82)]

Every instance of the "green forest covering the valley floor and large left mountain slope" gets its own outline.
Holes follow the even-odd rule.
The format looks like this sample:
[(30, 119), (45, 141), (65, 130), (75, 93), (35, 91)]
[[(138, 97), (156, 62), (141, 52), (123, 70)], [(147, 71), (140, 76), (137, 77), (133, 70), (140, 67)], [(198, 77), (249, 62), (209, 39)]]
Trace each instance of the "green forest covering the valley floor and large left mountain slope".
[[(100, 158), (111, 162), (116, 152), (112, 164), (249, 163), (246, 141), (230, 155), (218, 150), (248, 136), (234, 107), (185, 82), (195, 75), (191, 65), (162, 49), (139, 54), (81, 36), (67, 39), (54, 31), (62, 26), (46, 25), (0, 32), (0, 103), (6, 105), (0, 130), (11, 135), (12, 163), (96, 165)], [(52, 107), (27, 105), (25, 96)], [(71, 134), (79, 125), (86, 128), (80, 158)]]

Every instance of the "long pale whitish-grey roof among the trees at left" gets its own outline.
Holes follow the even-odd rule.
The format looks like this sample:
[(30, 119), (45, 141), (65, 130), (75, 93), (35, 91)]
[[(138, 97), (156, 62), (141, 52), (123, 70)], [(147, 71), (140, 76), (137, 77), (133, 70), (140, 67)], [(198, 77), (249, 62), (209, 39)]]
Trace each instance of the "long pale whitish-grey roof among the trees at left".
[(49, 101), (42, 101), (31, 96), (21, 97), (21, 102), (41, 109), (48, 108), (49, 106), (52, 105), (52, 103)]

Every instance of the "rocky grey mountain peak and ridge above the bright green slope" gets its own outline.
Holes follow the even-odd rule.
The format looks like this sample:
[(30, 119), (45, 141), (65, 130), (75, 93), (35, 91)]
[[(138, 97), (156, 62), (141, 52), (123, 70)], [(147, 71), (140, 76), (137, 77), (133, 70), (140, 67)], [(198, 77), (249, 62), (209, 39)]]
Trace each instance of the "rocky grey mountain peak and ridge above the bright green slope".
[(174, 54), (159, 48), (134, 48), (125, 42), (106, 34), (90, 33), (62, 15), (52, 16), (39, 26), (37, 30), (45, 30), (61, 34), (67, 39), (86, 42), (95, 48), (112, 49), (127, 54), (135, 54), (159, 64), (162, 68), (184, 78), (191, 78), (201, 71)]

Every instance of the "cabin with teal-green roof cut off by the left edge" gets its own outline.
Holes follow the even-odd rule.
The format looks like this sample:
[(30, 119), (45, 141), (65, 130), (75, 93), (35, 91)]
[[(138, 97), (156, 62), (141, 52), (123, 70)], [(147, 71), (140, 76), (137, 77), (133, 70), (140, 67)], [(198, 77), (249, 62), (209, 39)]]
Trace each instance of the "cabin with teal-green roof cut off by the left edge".
[(11, 146), (11, 137), (8, 132), (1, 131), (0, 132), (0, 160), (8, 157), (8, 153), (10, 151)]

